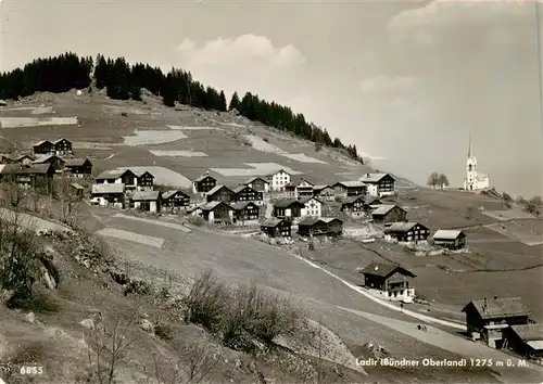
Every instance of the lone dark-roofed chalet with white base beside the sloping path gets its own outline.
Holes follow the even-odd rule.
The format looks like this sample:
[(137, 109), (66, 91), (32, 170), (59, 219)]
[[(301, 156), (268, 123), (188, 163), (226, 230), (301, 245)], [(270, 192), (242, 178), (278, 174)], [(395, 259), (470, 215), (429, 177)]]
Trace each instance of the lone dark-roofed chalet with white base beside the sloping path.
[(361, 270), (364, 286), (389, 300), (412, 303), (415, 297), (415, 273), (397, 265), (371, 261)]

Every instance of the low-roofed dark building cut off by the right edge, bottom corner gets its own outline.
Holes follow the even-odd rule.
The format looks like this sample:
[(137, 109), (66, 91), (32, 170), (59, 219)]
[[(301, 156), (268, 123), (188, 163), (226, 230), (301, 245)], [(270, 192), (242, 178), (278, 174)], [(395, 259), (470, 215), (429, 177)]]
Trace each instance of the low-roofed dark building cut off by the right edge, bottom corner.
[(543, 324), (509, 325), (503, 347), (530, 359), (543, 358)]

